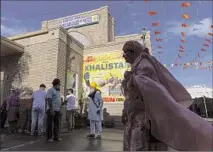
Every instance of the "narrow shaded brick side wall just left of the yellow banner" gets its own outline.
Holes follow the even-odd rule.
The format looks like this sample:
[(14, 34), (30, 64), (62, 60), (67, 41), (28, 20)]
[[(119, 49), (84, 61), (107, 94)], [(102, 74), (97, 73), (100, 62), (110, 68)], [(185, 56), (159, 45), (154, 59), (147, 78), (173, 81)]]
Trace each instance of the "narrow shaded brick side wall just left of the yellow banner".
[[(59, 52), (58, 52), (58, 77), (61, 79), (63, 85), (63, 93), (66, 93), (66, 79), (68, 67), (71, 66), (71, 71), (78, 74), (78, 87), (77, 91), (80, 89), (82, 84), (82, 64), (83, 64), (83, 46), (78, 43), (73, 37), (69, 35), (66, 30), (60, 30), (59, 37)], [(70, 62), (71, 57), (75, 59)], [(71, 64), (71, 65), (68, 65)], [(65, 95), (65, 94), (64, 94)]]

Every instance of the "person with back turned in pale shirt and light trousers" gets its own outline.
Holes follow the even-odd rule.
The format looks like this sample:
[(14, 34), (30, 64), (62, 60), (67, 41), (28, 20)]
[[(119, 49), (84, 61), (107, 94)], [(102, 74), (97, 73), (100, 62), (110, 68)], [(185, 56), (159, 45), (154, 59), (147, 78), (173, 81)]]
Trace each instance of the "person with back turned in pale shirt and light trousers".
[[(44, 115), (45, 115), (45, 100), (46, 100), (46, 86), (41, 84), (39, 90), (32, 95), (32, 124), (31, 136), (35, 134), (36, 126), (38, 126), (38, 135), (43, 132)], [(38, 120), (38, 121), (37, 121)]]

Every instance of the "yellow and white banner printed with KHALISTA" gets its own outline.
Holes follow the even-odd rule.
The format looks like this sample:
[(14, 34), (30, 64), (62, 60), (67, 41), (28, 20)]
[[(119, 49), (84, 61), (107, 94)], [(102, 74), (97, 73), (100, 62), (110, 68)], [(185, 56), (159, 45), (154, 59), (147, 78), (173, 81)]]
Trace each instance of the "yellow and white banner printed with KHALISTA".
[(122, 58), (122, 52), (103, 53), (84, 57), (83, 84), (88, 94), (89, 82), (96, 82), (102, 92), (104, 102), (123, 102), (121, 81), (124, 72), (130, 68)]

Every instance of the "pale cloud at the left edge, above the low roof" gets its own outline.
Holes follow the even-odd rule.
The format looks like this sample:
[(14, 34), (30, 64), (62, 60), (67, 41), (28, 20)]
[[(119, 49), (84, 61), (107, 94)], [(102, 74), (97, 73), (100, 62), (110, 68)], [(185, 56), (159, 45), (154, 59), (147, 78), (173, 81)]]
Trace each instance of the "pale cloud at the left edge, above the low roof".
[[(30, 31), (29, 28), (23, 26), (21, 21), (15, 18), (1, 17), (1, 35), (13, 36)], [(6, 24), (7, 23), (7, 24)], [(10, 26), (11, 25), (11, 26)]]

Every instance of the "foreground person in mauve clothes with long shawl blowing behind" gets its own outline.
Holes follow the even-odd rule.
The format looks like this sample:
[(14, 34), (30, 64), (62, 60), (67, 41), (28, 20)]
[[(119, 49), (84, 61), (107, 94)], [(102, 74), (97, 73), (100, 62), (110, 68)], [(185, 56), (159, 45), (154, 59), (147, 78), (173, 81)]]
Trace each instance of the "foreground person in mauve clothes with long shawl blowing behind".
[(184, 86), (137, 41), (124, 44), (123, 57), (131, 64), (122, 83), (124, 150), (212, 151), (213, 127), (188, 109)]

